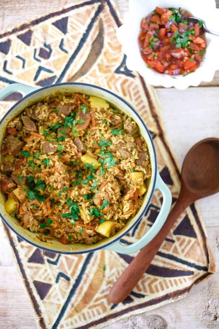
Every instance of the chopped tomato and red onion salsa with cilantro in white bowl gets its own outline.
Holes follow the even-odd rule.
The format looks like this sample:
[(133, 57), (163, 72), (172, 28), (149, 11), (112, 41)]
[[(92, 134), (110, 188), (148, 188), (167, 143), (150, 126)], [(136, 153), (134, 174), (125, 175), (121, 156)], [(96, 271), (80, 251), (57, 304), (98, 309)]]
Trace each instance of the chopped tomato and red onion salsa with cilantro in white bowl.
[(202, 22), (194, 25), (188, 17), (191, 13), (181, 8), (156, 7), (142, 18), (138, 40), (148, 68), (185, 76), (199, 67), (206, 51)]

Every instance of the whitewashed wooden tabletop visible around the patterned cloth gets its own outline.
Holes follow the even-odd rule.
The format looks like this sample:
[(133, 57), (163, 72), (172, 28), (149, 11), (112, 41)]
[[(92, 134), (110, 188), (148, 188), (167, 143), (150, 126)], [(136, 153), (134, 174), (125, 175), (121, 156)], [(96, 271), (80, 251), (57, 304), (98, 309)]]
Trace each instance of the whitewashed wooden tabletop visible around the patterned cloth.
[[(1, 0), (0, 31), (33, 19), (73, 0)], [(219, 8), (219, 0), (217, 8)], [(116, 0), (123, 17), (128, 0)], [(161, 102), (167, 137), (180, 165), (197, 141), (219, 137), (219, 71), (210, 83), (184, 91), (156, 88)], [(171, 119), (170, 119), (171, 118)], [(208, 241), (219, 268), (219, 193), (197, 202), (206, 226)], [(118, 321), (108, 329), (190, 329), (219, 328), (219, 274), (199, 283), (189, 296), (154, 311)], [(33, 309), (14, 265), (0, 225), (0, 328), (36, 329)], [(71, 329), (71, 328), (70, 328)]]

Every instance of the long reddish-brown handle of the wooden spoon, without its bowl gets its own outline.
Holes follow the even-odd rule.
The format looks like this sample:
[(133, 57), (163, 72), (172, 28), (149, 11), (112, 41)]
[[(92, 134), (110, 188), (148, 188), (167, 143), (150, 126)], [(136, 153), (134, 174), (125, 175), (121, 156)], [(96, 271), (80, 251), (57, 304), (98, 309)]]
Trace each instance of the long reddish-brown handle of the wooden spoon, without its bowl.
[(148, 244), (146, 244), (145, 247), (142, 248), (138, 255), (133, 259), (133, 261), (129, 264), (129, 266), (127, 266), (124, 272), (117, 279), (108, 296), (108, 301), (110, 303), (120, 303), (137, 285), (138, 281), (141, 279), (142, 275), (151, 264), (154, 256), (157, 254), (174, 222), (183, 212), (183, 210), (190, 204), (188, 202), (186, 205), (184, 201), (185, 200), (179, 196), (175, 206), (168, 215), (160, 232), (153, 240), (151, 240)]

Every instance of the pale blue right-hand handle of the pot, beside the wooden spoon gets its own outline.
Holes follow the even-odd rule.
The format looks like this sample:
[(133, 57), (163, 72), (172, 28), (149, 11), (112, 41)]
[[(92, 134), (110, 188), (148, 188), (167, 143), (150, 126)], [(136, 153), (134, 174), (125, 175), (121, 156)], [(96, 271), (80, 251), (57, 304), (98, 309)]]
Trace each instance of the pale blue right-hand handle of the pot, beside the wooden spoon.
[(136, 252), (140, 249), (142, 249), (147, 243), (149, 243), (160, 231), (162, 226), (164, 225), (164, 222), (167, 218), (167, 215), (170, 210), (170, 206), (172, 203), (172, 196), (171, 192), (166, 186), (166, 184), (163, 182), (161, 176), (159, 173), (157, 173), (157, 179), (155, 184), (155, 190), (159, 190), (163, 195), (163, 203), (160, 210), (160, 213), (158, 214), (154, 224), (151, 226), (151, 228), (144, 234), (144, 236), (139, 239), (138, 241), (129, 244), (124, 245), (120, 242), (120, 240), (104, 247), (103, 249), (113, 250), (116, 252), (119, 252), (120, 254), (132, 254), (133, 252)]

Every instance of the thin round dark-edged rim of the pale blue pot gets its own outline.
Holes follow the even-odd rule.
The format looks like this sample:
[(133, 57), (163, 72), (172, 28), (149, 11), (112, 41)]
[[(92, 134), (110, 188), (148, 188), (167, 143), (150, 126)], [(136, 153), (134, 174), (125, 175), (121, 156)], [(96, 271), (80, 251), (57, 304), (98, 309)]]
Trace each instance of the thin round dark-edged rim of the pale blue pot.
[[(98, 89), (98, 90), (102, 90), (108, 94), (110, 94), (111, 96), (117, 98), (118, 100), (120, 100), (126, 107), (128, 107), (131, 112), (134, 112), (135, 115), (138, 117), (138, 120), (142, 123), (142, 126), (144, 128), (144, 131), (150, 141), (150, 146), (152, 148), (152, 152), (153, 152), (153, 158), (154, 158), (154, 168), (153, 168), (153, 171), (154, 171), (154, 177), (153, 177), (153, 181), (150, 182), (150, 186), (151, 186), (151, 191), (150, 191), (150, 194), (147, 196), (147, 202), (145, 204), (144, 207), (140, 208), (139, 212), (137, 213), (137, 218), (135, 219), (135, 221), (131, 224), (131, 226), (127, 227), (125, 229), (124, 227), (124, 231), (121, 232), (120, 235), (118, 235), (117, 237), (115, 237), (115, 239), (112, 239), (111, 241), (107, 242), (106, 239), (103, 239), (101, 241), (105, 241), (105, 243), (103, 242), (101, 245), (85, 245), (87, 247), (87, 250), (69, 250), (69, 251), (55, 251), (53, 249), (50, 249), (50, 248), (47, 248), (47, 247), (44, 247), (44, 246), (39, 246), (37, 245), (35, 242), (29, 240), (28, 238), (26, 237), (23, 237), (19, 232), (17, 232), (13, 227), (11, 227), (10, 223), (4, 218), (4, 216), (2, 215), (2, 213), (0, 212), (0, 218), (3, 220), (3, 222), (11, 229), (12, 232), (14, 232), (20, 239), (22, 240), (25, 240), (26, 242), (32, 244), (33, 246), (37, 247), (37, 248), (40, 248), (40, 249), (43, 249), (45, 251), (50, 251), (50, 252), (53, 252), (53, 253), (58, 253), (58, 254), (82, 254), (82, 253), (87, 253), (87, 252), (92, 252), (92, 251), (96, 251), (96, 250), (100, 250), (102, 248), (105, 248), (107, 246), (109, 246), (110, 244), (120, 240), (122, 237), (124, 237), (142, 218), (144, 212), (146, 211), (146, 209), (148, 208), (149, 206), (149, 202), (152, 198), (152, 195), (153, 195), (153, 192), (154, 192), (154, 189), (155, 189), (155, 184), (156, 184), (156, 178), (157, 178), (157, 157), (156, 157), (156, 152), (155, 152), (155, 147), (154, 147), (154, 143), (153, 143), (153, 139), (150, 135), (150, 132), (148, 130), (148, 128), (146, 127), (144, 121), (142, 120), (141, 116), (137, 113), (137, 111), (134, 110), (134, 108), (128, 103), (126, 102), (122, 97), (118, 96), (117, 94), (113, 93), (112, 91), (109, 91), (107, 89), (104, 89), (102, 87), (99, 87), (99, 86), (95, 86), (95, 85), (91, 85), (91, 84), (86, 84), (86, 83), (81, 83), (81, 82), (66, 82), (66, 83), (58, 83), (58, 84), (54, 84), (54, 85), (49, 85), (49, 86), (46, 86), (46, 87), (42, 87), (42, 88), (39, 88), (39, 89), (35, 89), (33, 90), (32, 92), (28, 93), (27, 95), (25, 95), (24, 97), (22, 97), (18, 102), (16, 102), (8, 111), (7, 113), (3, 116), (3, 118), (0, 120), (0, 126), (1, 124), (5, 121), (5, 118), (8, 116), (8, 114), (18, 105), (20, 104), (21, 102), (23, 102), (26, 98), (30, 97), (30, 96), (33, 96), (34, 94), (36, 94), (37, 92), (41, 92), (42, 90), (45, 90), (45, 89), (49, 89), (49, 88), (56, 88), (58, 86), (86, 86), (86, 87), (91, 87), (91, 88), (94, 88), (94, 89)], [(112, 103), (112, 102), (110, 102)], [(122, 112), (124, 112), (123, 110), (120, 110)], [(144, 136), (143, 136), (144, 137)], [(150, 157), (151, 157), (151, 152), (150, 152)], [(101, 243), (101, 242), (99, 242)], [(74, 246), (74, 244), (73, 244)]]

